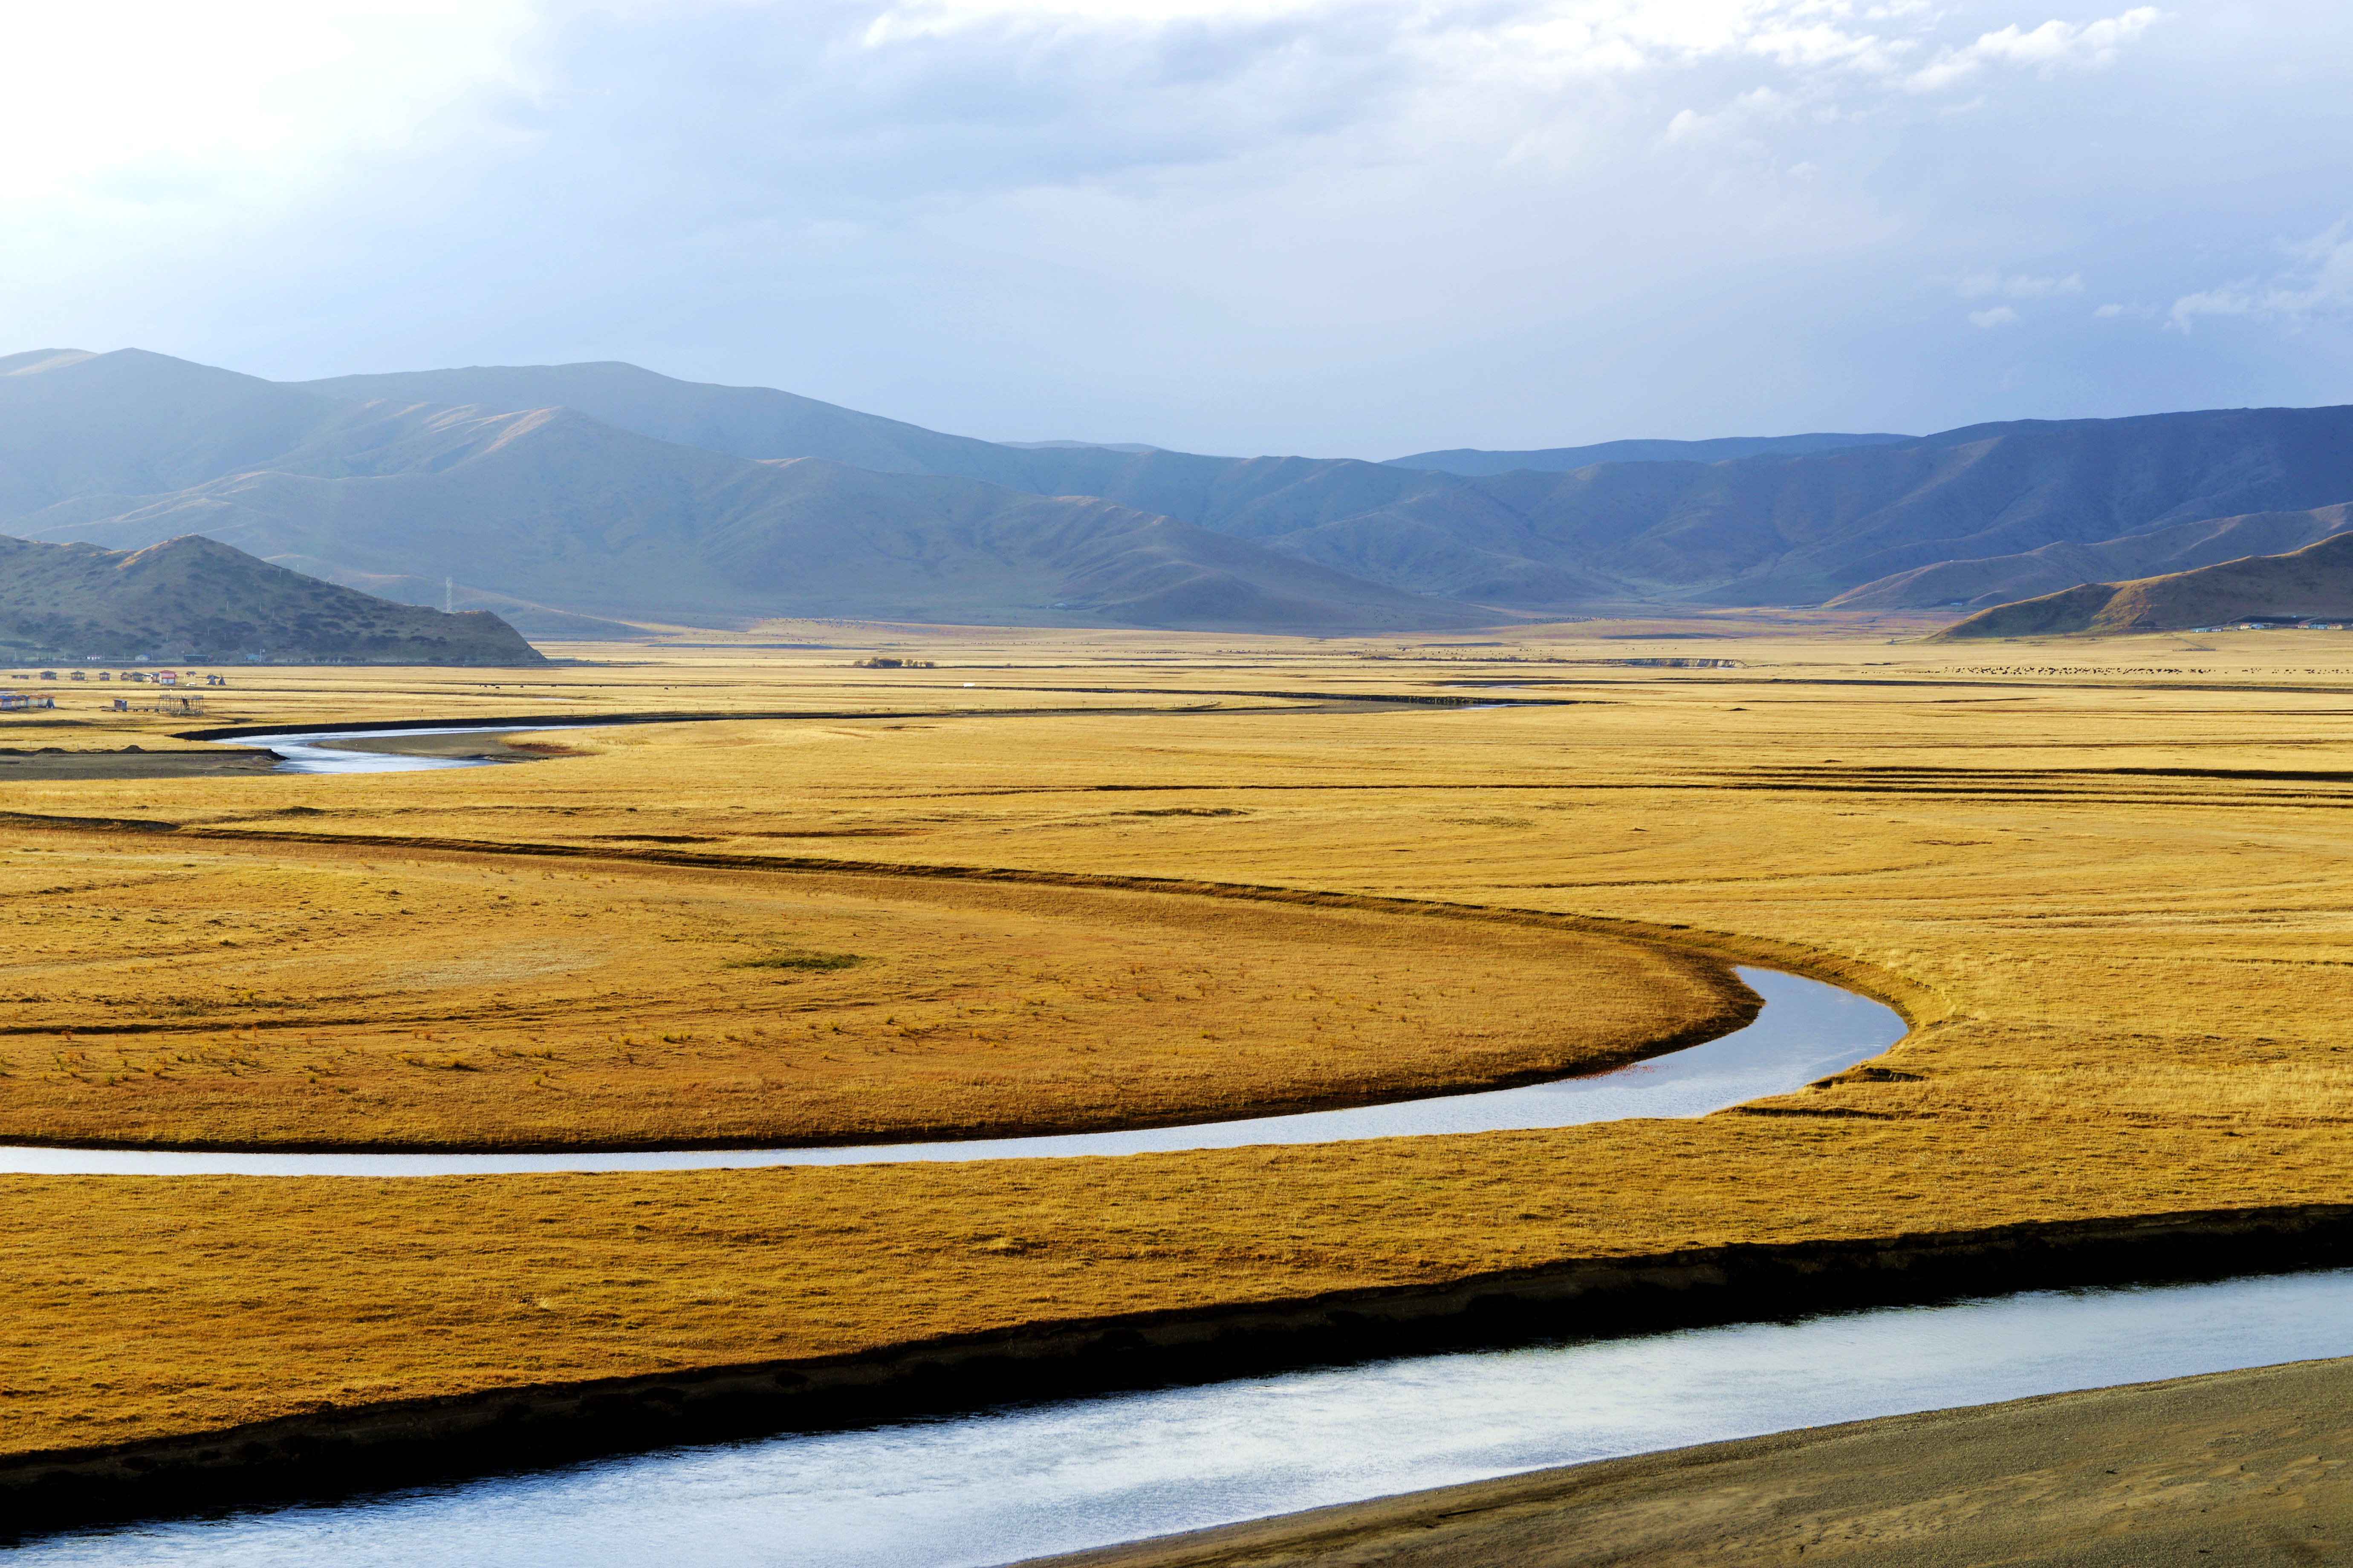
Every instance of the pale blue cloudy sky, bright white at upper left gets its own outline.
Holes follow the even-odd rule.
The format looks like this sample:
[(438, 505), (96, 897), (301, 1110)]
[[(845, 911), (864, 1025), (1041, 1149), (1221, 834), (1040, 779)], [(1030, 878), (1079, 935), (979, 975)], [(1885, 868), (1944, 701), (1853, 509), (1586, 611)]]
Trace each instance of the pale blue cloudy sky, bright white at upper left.
[(2341, 0), (80, 0), (0, 353), (1384, 458), (2353, 402)]

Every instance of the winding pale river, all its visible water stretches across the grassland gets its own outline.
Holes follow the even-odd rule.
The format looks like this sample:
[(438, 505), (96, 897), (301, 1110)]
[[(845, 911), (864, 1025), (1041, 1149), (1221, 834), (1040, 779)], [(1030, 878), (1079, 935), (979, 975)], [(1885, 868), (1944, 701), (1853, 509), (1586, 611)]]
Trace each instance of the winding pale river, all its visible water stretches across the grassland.
[[(381, 731), (379, 731), (381, 733)], [(452, 733), (416, 731), (416, 733)], [(475, 731), (480, 733), (480, 731)], [(318, 736), (341, 738), (341, 736)], [(308, 748), (304, 736), (292, 745)], [(289, 745), (268, 738), (273, 748)], [(329, 748), (315, 748), (327, 752)], [(341, 766), (351, 759), (353, 766)], [(294, 755), (301, 771), (471, 766)], [(438, 1175), (1141, 1154), (1697, 1117), (1878, 1056), (1904, 1020), (1744, 969), (1746, 1030), (1619, 1072), (1146, 1133), (871, 1150), (169, 1154), (0, 1150), (5, 1171)], [(1144, 1535), (1791, 1427), (2353, 1354), (2353, 1269), (2045, 1291), (1009, 1403), (673, 1448), (327, 1505), (28, 1542), (24, 1568), (986, 1568)]]

